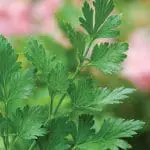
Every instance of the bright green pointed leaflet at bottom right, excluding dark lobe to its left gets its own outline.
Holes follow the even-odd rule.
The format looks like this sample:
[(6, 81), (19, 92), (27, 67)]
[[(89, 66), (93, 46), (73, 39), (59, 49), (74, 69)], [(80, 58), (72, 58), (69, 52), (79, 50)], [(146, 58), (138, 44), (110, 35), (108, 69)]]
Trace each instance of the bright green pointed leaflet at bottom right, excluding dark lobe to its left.
[[(136, 134), (137, 130), (140, 130), (144, 125), (141, 121), (124, 119), (107, 119), (101, 126), (100, 131), (90, 141), (92, 144), (97, 143), (97, 149), (95, 150), (114, 150), (114, 149), (128, 149), (127, 143), (122, 138), (132, 137)], [(89, 147), (90, 150), (90, 147)]]

